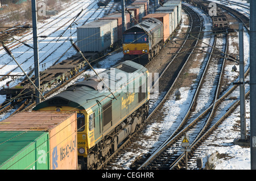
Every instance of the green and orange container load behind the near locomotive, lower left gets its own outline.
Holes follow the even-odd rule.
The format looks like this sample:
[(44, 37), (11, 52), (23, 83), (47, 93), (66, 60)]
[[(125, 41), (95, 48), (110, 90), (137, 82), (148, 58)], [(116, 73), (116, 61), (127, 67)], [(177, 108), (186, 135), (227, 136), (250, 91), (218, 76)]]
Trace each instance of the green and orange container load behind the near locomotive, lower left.
[(0, 122), (1, 170), (77, 170), (76, 112), (19, 112)]

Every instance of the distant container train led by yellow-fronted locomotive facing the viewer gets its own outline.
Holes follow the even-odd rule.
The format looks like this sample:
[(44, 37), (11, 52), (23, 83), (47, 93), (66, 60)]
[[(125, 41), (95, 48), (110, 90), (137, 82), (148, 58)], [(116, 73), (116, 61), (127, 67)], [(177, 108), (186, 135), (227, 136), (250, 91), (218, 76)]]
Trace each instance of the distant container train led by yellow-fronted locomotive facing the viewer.
[(181, 1), (169, 0), (142, 19), (123, 32), (123, 58), (146, 64), (174, 34), (181, 20)]

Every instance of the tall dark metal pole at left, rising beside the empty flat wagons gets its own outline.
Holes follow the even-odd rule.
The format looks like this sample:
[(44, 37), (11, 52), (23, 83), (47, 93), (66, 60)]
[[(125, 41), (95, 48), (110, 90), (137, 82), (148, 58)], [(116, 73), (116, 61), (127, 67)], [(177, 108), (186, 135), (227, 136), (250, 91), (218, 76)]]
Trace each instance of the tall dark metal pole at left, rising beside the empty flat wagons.
[[(33, 48), (34, 48), (34, 66), (35, 66), (35, 86), (40, 90), (40, 78), (39, 78), (39, 60), (38, 60), (38, 30), (37, 24), (37, 11), (36, 0), (31, 1), (32, 5), (32, 27), (33, 27)], [(36, 104), (40, 103), (40, 93), (36, 90)]]

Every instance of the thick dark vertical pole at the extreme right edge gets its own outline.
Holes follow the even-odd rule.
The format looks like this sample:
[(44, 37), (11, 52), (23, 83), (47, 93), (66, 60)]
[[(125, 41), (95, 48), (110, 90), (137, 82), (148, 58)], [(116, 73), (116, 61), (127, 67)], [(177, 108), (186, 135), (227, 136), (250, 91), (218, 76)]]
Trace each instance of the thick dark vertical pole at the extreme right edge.
[(256, 1), (250, 1), (250, 144), (251, 170), (256, 170)]

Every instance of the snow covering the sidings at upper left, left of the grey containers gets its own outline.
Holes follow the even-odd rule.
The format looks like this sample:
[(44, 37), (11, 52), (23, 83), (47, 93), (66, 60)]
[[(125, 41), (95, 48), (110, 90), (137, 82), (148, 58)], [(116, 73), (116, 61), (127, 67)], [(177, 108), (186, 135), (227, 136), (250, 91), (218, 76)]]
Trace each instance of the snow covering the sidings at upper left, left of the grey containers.
[[(113, 3), (110, 2), (110, 4)], [(77, 40), (76, 37), (76, 28), (81, 26), (84, 21), (89, 18), (88, 22), (91, 22), (95, 18), (101, 18), (104, 16), (105, 9), (100, 8), (97, 12), (93, 12), (97, 9), (97, 1), (88, 0), (88, 1), (72, 1), (68, 3), (63, 3), (63, 7), (66, 7), (65, 10), (59, 12), (58, 14), (51, 16), (51, 18), (44, 20), (43, 22), (38, 22), (38, 36), (48, 36), (46, 38), (38, 38), (38, 49), (39, 49), (39, 62), (44, 60), (42, 64), (39, 65), (40, 71), (47, 69), (55, 61), (59, 60), (61, 62), (68, 57), (71, 57), (73, 54), (76, 54), (75, 50), (71, 48), (70, 38)], [(76, 23), (73, 23), (71, 28), (67, 27), (72, 23), (75, 16), (82, 11), (80, 16), (76, 19)], [(87, 10), (85, 10), (87, 9)], [(114, 11), (114, 10), (113, 10)], [(68, 16), (67, 16), (68, 15)], [(87, 22), (87, 23), (88, 23)], [(64, 27), (61, 27), (64, 23)], [(61, 28), (60, 28), (61, 27)], [(60, 35), (65, 31), (65, 33), (60, 37)], [(31, 30), (32, 32), (32, 30)], [(60, 37), (60, 38), (59, 38)], [(20, 39), (21, 37), (16, 37), (15, 39)], [(25, 39), (20, 39), (20, 41), (27, 40), (26, 43), (33, 47), (32, 33), (28, 35)], [(58, 40), (58, 41), (57, 41)], [(13, 45), (12, 43), (6, 44), (7, 47)], [(18, 48), (10, 48), (13, 53), (16, 61), (22, 66), (22, 69), (28, 73), (31, 68), (34, 68), (34, 51), (31, 48), (26, 47), (25, 45), (20, 45)], [(24, 53), (26, 52), (26, 53)], [(21, 54), (23, 53), (23, 54)], [(52, 53), (52, 54), (51, 54)], [(64, 56), (63, 56), (64, 54)], [(24, 62), (24, 60), (27, 60)], [(0, 69), (0, 74), (7, 74), (10, 70), (15, 68), (17, 65), (14, 60), (6, 54), (5, 50), (0, 50), (0, 67), (5, 65), (7, 62), (11, 63), (5, 68)], [(24, 62), (24, 63), (23, 63)], [(106, 65), (108, 66), (108, 65)], [(12, 74), (23, 74), (22, 71), (18, 68)], [(15, 86), (22, 78), (15, 79), (15, 81), (9, 83), (9, 87)], [(5, 79), (0, 83), (0, 87), (6, 86), (6, 83), (11, 81), (11, 78)], [(5, 96), (0, 95), (0, 102), (2, 103), (5, 100)]]

